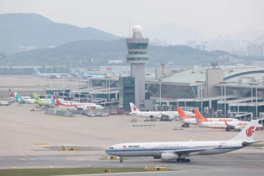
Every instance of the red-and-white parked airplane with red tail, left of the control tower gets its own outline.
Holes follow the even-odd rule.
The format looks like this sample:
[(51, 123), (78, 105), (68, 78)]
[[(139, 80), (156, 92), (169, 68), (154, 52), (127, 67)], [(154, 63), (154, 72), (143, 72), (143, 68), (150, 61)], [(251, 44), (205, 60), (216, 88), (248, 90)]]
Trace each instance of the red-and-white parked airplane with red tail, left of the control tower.
[(103, 106), (97, 105), (95, 103), (72, 103), (72, 102), (66, 102), (62, 103), (60, 100), (57, 99), (56, 96), (53, 96), (53, 99), (55, 101), (55, 106), (57, 107), (64, 107), (67, 109), (91, 109), (91, 110), (101, 110), (104, 109)]

